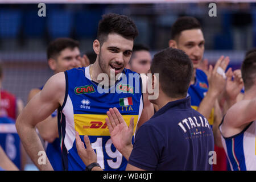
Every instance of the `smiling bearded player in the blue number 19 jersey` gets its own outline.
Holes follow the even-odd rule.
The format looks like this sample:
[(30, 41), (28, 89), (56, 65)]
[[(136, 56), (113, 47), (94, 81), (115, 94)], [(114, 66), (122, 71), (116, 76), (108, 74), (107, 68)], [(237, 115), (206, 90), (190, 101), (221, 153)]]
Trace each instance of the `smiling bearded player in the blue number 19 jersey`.
[[(122, 170), (126, 168), (127, 160), (115, 150), (110, 139), (109, 130), (105, 123), (106, 111), (110, 107), (122, 110), (121, 101), (129, 110), (123, 109), (121, 114), (129, 122), (147, 121), (143, 116), (143, 99), (139, 81), (139, 93), (98, 93), (97, 87), (100, 73), (110, 78), (110, 71), (118, 75), (118, 80), (109, 86), (127, 81), (129, 69), (124, 69), (129, 62), (133, 50), (135, 37), (138, 35), (134, 22), (124, 15), (107, 14), (102, 16), (98, 26), (97, 39), (93, 42), (94, 52), (97, 54), (94, 64), (88, 67), (74, 68), (60, 72), (49, 78), (39, 94), (36, 94), (20, 114), (16, 128), (20, 138), (33, 162), (40, 170), (51, 170), (52, 166), (47, 158), (46, 164), (38, 164), (38, 152), (43, 146), (35, 131), (35, 126), (46, 119), (55, 109), (58, 109), (59, 136), (63, 168), (65, 170), (84, 170), (85, 164), (77, 154), (75, 144), (76, 131), (80, 136), (88, 135), (92, 147), (97, 151), (98, 163), (106, 170)], [(111, 83), (111, 81), (109, 81)], [(134, 86), (130, 84), (129, 86)], [(77, 88), (83, 90), (77, 93)], [(84, 107), (84, 106), (88, 107)], [(130, 109), (131, 108), (131, 109)]]

